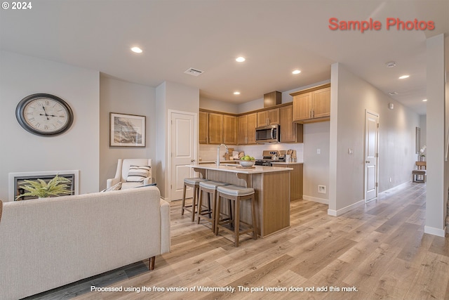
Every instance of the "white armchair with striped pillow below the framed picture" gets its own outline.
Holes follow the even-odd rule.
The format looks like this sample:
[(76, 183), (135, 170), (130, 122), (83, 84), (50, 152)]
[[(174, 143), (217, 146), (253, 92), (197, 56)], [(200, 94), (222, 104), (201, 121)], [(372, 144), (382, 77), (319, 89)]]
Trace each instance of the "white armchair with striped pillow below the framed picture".
[[(127, 182), (128, 171), (130, 166), (148, 166), (150, 167), (148, 177), (143, 180), (143, 182)], [(113, 185), (121, 182), (121, 189), (135, 188), (140, 185), (149, 185), (152, 183), (152, 159), (151, 158), (119, 158), (117, 162), (117, 169), (115, 171), (114, 178), (109, 178), (106, 180), (106, 188), (111, 188)]]

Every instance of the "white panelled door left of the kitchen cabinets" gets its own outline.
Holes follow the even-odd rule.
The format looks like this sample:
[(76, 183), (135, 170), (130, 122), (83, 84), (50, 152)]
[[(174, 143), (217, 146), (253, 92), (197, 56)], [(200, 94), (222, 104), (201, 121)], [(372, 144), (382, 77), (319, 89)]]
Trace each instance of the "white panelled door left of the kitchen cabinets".
[[(170, 112), (170, 200), (182, 199), (184, 178), (194, 177), (187, 165), (195, 161), (196, 145), (196, 114)], [(191, 188), (186, 197), (192, 197)]]

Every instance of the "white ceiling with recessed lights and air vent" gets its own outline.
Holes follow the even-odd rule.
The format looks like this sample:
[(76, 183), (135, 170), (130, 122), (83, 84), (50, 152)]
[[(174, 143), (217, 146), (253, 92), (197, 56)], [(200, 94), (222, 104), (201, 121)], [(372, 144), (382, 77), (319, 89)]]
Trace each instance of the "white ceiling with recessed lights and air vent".
[[(330, 30), (330, 18), (372, 18), (382, 28)], [(387, 30), (387, 18), (433, 21), (435, 29)], [(0, 11), (1, 50), (136, 84), (173, 81), (198, 87), (201, 98), (243, 103), (330, 79), (338, 62), (421, 115), (426, 39), (441, 33), (449, 51), (449, 0), (39, 0)], [(185, 74), (189, 67), (204, 73)]]

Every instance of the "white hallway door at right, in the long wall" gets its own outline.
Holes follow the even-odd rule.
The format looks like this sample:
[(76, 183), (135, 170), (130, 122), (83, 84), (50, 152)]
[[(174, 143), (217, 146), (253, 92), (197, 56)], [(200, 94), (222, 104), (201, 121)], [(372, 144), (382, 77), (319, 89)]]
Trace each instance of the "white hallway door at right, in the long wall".
[(379, 115), (365, 112), (365, 201), (377, 198)]

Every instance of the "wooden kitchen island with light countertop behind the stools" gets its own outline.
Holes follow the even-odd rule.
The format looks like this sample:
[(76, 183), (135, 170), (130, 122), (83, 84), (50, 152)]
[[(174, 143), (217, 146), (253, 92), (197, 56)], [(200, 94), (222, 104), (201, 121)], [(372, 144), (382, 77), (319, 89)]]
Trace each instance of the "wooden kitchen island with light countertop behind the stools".
[[(290, 227), (290, 171), (285, 167), (243, 168), (239, 164), (190, 165), (202, 178), (242, 185), (255, 190), (257, 234), (266, 237)], [(223, 209), (226, 209), (223, 207)], [(241, 219), (251, 219), (250, 204), (243, 202)]]

